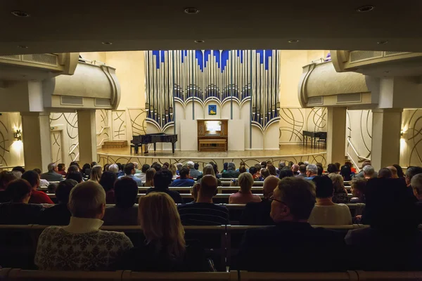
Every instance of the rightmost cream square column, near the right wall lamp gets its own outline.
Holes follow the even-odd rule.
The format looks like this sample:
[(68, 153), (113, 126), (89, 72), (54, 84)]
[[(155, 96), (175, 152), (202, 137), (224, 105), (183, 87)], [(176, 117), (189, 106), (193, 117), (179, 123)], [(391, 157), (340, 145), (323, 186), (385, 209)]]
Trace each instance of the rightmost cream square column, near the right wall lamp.
[(371, 162), (378, 171), (399, 164), (402, 108), (372, 110)]

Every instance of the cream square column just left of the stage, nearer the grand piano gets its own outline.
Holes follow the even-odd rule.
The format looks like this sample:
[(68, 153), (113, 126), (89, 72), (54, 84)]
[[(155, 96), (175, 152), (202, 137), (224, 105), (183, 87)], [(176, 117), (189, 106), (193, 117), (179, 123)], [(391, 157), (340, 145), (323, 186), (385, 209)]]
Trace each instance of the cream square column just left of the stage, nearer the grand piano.
[(79, 163), (97, 161), (95, 110), (77, 110)]

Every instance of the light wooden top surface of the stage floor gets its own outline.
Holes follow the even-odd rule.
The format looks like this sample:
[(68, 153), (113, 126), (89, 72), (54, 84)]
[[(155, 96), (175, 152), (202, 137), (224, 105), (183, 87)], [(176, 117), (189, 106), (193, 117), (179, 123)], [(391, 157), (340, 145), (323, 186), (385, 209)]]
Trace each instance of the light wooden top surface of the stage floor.
[[(125, 148), (101, 148), (97, 150), (98, 154), (102, 155), (119, 155), (124, 157), (171, 157), (171, 158), (244, 158), (244, 157), (279, 157), (279, 156), (295, 156), (295, 155), (309, 155), (314, 153), (325, 152), (325, 148), (311, 148), (302, 145), (281, 145), (279, 150), (245, 150), (245, 151), (226, 151), (226, 152), (199, 152), (199, 151), (180, 151), (176, 150), (174, 154), (172, 151), (149, 150), (148, 154), (131, 155), (130, 147)], [(139, 149), (141, 152), (141, 149)]]

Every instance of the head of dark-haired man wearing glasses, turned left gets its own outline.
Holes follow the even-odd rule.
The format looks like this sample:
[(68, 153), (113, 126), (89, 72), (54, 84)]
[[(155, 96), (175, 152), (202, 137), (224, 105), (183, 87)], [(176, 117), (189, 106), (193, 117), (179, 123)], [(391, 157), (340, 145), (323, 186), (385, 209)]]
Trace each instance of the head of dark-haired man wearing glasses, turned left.
[(270, 216), (275, 223), (308, 220), (315, 205), (315, 187), (304, 178), (283, 178), (272, 195)]

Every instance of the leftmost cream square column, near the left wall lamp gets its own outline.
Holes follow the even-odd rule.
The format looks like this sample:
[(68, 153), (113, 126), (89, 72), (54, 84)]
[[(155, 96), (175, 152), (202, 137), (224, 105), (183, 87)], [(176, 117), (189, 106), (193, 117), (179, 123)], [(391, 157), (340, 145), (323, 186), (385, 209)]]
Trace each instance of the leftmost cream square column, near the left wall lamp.
[(49, 113), (21, 112), (23, 159), (25, 169), (47, 171), (51, 162), (51, 134)]

